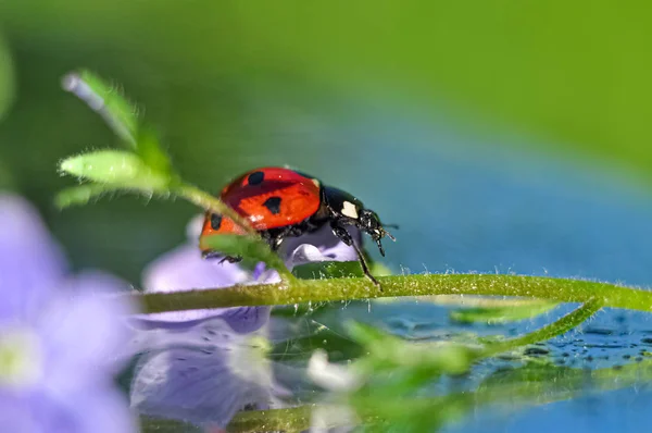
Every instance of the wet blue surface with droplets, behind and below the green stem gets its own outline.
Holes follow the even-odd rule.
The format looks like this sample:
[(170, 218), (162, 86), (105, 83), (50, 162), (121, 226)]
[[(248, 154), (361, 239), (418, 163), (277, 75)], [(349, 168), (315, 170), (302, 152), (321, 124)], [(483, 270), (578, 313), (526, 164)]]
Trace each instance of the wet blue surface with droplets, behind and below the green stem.
[[(394, 271), (515, 272), (643, 287), (652, 283), (652, 195), (619, 181), (609, 166), (578, 169), (396, 120), (347, 134), (365, 144), (350, 164), (364, 164), (369, 151), (374, 160), (385, 161), (375, 172), (349, 170), (341, 184), (367, 206), (378, 203), (386, 221), (401, 224), (399, 242), (387, 247), (386, 261)], [(518, 334), (569, 308), (469, 331)], [(363, 309), (342, 316), (364, 316)], [(451, 330), (447, 310), (427, 302), (373, 304), (366, 314), (405, 337), (437, 338)], [(603, 310), (549, 348), (553, 359), (566, 352), (565, 364), (612, 367), (636, 362), (650, 349), (651, 330), (647, 313)], [(640, 384), (504, 413), (480, 409), (448, 431), (641, 431), (651, 405), (650, 387)]]

